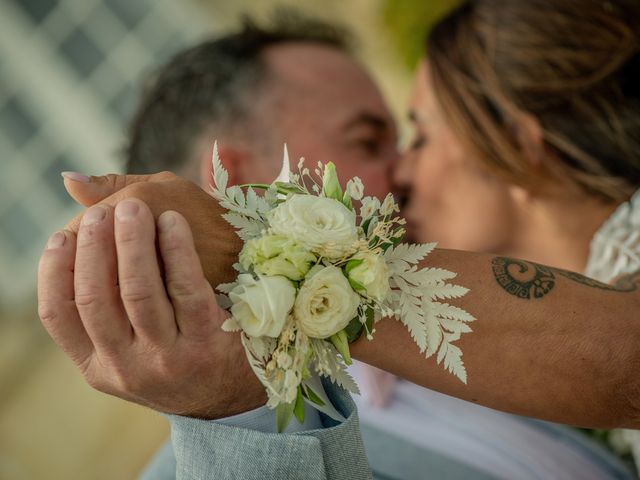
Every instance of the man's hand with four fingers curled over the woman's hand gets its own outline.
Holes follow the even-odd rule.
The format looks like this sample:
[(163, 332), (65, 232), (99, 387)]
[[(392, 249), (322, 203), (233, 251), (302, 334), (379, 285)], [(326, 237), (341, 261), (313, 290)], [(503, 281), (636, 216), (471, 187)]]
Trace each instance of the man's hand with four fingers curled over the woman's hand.
[[(162, 195), (150, 189), (160, 200), (156, 212), (163, 200), (175, 206), (171, 186), (171, 180), (163, 185)], [(182, 192), (184, 199), (197, 199), (198, 192), (210, 199), (197, 187), (189, 195)], [(157, 240), (164, 279), (154, 215), (138, 199), (121, 201), (115, 210), (106, 203), (91, 207), (77, 238), (71, 231), (55, 233), (38, 272), (45, 328), (87, 382), (103, 392), (200, 418), (264, 404), (264, 390), (237, 334), (220, 329), (226, 314), (204, 276), (187, 220), (175, 211), (160, 214)], [(214, 248), (208, 254), (215, 253)]]

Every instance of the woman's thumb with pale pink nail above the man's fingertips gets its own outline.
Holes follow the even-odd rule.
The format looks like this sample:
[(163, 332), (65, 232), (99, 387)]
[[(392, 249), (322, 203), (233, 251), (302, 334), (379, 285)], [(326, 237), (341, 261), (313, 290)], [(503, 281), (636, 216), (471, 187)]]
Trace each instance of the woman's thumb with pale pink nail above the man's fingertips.
[(127, 185), (139, 182), (163, 182), (175, 178), (171, 172), (151, 175), (108, 175), (88, 176), (78, 172), (62, 172), (64, 188), (76, 202), (85, 207), (104, 200)]

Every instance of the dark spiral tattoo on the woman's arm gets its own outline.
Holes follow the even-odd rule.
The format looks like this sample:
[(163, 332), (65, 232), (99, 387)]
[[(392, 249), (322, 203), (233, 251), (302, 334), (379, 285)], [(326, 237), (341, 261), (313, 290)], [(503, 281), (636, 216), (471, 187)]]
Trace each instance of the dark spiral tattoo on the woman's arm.
[(507, 293), (523, 299), (542, 298), (547, 295), (555, 287), (558, 275), (587, 287), (612, 292), (634, 292), (640, 284), (640, 271), (608, 285), (579, 273), (509, 257), (495, 257), (491, 266), (498, 284)]

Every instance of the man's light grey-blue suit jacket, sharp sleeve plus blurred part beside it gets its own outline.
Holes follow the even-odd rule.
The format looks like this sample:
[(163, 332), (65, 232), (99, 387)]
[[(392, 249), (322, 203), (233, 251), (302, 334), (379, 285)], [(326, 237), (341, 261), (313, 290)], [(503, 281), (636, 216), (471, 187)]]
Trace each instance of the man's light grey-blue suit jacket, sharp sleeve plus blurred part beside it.
[(328, 382), (324, 386), (347, 420), (337, 423), (321, 415), (325, 428), (319, 430), (271, 434), (169, 416), (171, 443), (156, 454), (141, 480), (368, 479), (372, 470), (377, 480), (495, 480), (441, 453), (361, 426), (351, 397)]

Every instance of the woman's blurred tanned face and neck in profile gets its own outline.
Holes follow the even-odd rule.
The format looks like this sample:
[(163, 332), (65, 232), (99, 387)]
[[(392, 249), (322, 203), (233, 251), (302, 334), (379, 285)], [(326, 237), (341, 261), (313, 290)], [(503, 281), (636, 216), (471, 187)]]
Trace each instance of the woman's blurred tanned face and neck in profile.
[(414, 137), (395, 171), (410, 191), (403, 212), (409, 234), (443, 248), (508, 252), (516, 228), (511, 189), (465, 150), (437, 105), (424, 62), (410, 118)]

